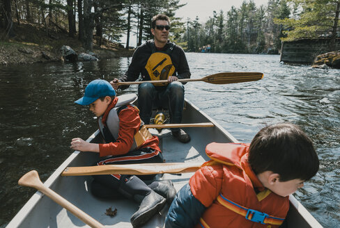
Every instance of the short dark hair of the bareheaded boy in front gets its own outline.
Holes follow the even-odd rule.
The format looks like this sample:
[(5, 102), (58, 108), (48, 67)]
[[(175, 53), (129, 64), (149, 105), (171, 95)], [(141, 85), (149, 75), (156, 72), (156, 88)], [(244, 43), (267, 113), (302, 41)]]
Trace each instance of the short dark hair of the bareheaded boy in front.
[(272, 171), (279, 181), (307, 181), (318, 172), (318, 155), (311, 139), (295, 124), (264, 127), (249, 147), (249, 164), (256, 174)]

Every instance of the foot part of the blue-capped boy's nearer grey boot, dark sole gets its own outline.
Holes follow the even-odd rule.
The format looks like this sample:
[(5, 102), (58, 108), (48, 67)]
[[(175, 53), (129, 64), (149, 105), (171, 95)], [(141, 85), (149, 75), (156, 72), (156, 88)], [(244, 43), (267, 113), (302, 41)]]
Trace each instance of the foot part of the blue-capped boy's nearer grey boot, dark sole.
[(131, 224), (133, 227), (141, 227), (156, 213), (162, 210), (163, 206), (167, 203), (167, 199), (158, 195), (153, 190), (148, 193), (141, 202), (139, 209), (131, 216)]

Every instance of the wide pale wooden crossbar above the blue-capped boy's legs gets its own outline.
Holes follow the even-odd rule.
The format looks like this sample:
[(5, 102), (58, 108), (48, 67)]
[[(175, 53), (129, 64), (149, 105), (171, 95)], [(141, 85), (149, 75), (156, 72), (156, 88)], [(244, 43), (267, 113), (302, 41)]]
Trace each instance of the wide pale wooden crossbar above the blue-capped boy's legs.
[(68, 167), (61, 176), (88, 176), (102, 174), (148, 175), (162, 173), (195, 172), (202, 163), (141, 163), (127, 165), (95, 165)]

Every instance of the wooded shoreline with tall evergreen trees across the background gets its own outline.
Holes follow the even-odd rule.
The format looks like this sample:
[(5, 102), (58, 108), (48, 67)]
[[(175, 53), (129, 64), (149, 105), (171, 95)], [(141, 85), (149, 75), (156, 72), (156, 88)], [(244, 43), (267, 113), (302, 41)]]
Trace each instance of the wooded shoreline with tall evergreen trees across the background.
[(176, 17), (185, 5), (180, 0), (3, 0), (0, 65), (60, 61), (64, 45), (99, 59), (132, 56), (130, 38), (137, 38), (137, 46), (152, 39), (151, 19), (158, 13), (170, 17), (169, 38), (185, 51), (280, 54), (282, 42), (310, 39), (329, 40), (323, 52), (316, 44), (317, 53), (307, 54), (311, 58), (339, 51), (339, 0), (268, 0), (261, 6), (245, 0), (228, 11), (221, 6), (206, 22)]

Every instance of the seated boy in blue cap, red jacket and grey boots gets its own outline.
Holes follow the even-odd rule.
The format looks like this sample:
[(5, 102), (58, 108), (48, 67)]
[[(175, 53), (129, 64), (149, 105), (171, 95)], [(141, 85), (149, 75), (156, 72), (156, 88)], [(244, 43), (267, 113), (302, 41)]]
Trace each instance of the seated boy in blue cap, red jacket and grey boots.
[[(75, 101), (89, 105), (96, 117), (105, 143), (91, 143), (73, 138), (71, 149), (81, 152), (97, 152), (104, 159), (96, 165), (124, 163), (162, 163), (163, 157), (157, 136), (152, 136), (139, 117), (139, 110), (130, 102), (132, 97), (116, 97), (116, 91), (105, 80), (94, 80), (85, 89), (84, 97)], [(109, 156), (109, 157), (107, 157)], [(91, 192), (98, 197), (124, 195), (140, 203), (139, 210), (131, 217), (134, 227), (140, 227), (158, 213), (176, 194), (169, 183), (154, 181), (147, 186), (134, 175), (95, 175)]]

